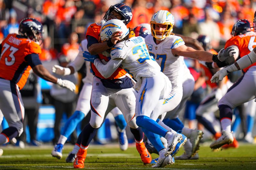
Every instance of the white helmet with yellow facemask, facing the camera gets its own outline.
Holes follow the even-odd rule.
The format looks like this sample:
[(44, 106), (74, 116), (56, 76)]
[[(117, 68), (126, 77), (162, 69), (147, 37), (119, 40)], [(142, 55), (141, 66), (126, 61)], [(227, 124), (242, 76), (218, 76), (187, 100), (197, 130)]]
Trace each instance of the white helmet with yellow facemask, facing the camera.
[[(155, 25), (165, 25), (166, 29), (164, 31), (155, 30)], [(150, 26), (152, 35), (159, 41), (164, 40), (172, 33), (172, 28), (174, 25), (174, 17), (171, 12), (166, 10), (157, 11), (151, 18)], [(160, 34), (161, 33), (161, 34)]]

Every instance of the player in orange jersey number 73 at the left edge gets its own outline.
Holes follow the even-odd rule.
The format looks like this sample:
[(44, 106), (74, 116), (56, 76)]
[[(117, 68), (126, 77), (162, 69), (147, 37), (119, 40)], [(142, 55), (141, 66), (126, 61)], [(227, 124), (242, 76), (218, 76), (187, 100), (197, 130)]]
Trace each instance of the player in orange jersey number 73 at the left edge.
[(52, 76), (39, 60), (41, 48), (38, 41), (43, 33), (43, 25), (34, 18), (20, 22), (19, 34), (9, 34), (0, 45), (0, 110), (9, 128), (0, 134), (0, 145), (23, 132), (24, 106), (20, 89), (25, 85), (29, 71), (39, 77), (74, 91), (76, 86), (68, 81)]

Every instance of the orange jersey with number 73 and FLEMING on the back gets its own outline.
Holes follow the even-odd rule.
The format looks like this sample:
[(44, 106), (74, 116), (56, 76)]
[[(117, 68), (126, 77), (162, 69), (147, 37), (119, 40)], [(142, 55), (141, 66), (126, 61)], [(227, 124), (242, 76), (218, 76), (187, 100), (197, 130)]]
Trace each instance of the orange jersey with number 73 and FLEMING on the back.
[(25, 57), (32, 53), (41, 53), (40, 46), (34, 41), (17, 34), (7, 35), (2, 42), (0, 78), (15, 82), (22, 89), (31, 70)]

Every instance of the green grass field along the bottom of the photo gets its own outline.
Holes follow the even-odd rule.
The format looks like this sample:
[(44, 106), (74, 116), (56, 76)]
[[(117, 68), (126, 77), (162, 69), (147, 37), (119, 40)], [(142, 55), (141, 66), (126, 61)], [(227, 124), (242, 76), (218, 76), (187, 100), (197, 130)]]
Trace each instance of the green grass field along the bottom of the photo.
[[(135, 145), (135, 144), (134, 144)], [(143, 165), (139, 154), (130, 145), (127, 151), (120, 151), (116, 145), (90, 145), (85, 159), (87, 169), (149, 169), (152, 164)], [(72, 146), (65, 146), (63, 158), (51, 155), (52, 146), (27, 147), (26, 149), (2, 147), (0, 169), (73, 169), (65, 159)], [(181, 155), (180, 150), (177, 155)], [(152, 154), (157, 158), (156, 154)], [(160, 169), (256, 169), (256, 145), (240, 144), (238, 149), (212, 152), (209, 146), (201, 146), (198, 160), (176, 160), (175, 164)]]

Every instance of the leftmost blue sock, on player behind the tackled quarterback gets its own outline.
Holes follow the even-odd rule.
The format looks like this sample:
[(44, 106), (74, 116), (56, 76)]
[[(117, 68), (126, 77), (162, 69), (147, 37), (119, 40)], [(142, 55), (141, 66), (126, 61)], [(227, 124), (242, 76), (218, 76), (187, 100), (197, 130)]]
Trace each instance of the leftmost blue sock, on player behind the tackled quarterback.
[(76, 129), (77, 124), (84, 119), (84, 115), (85, 114), (83, 112), (76, 110), (74, 114), (68, 118), (61, 135), (69, 137), (71, 133)]

